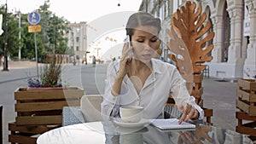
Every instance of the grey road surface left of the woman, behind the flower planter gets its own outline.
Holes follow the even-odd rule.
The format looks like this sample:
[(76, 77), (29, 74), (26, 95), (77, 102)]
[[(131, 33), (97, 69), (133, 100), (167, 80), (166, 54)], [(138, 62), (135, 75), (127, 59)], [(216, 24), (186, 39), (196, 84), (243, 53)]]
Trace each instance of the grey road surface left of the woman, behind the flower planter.
[[(64, 65), (62, 82), (67, 86), (84, 88), (85, 94), (102, 94), (106, 68), (108, 65), (73, 66)], [(38, 66), (39, 72), (42, 65)], [(0, 105), (3, 105), (3, 143), (8, 143), (8, 123), (15, 121), (14, 92), (19, 87), (27, 87), (29, 77), (37, 78), (35, 63), (15, 63), (9, 66), (9, 72), (0, 71)]]

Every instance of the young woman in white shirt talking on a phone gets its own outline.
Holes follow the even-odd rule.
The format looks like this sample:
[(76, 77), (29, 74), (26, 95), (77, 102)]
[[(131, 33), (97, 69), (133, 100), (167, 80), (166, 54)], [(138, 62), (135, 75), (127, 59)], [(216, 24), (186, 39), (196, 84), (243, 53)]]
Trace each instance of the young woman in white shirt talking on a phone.
[(160, 20), (151, 14), (132, 14), (126, 25), (131, 39), (124, 44), (122, 59), (108, 66), (102, 115), (119, 117), (119, 107), (144, 107), (143, 118), (163, 118), (162, 112), (171, 94), (183, 111), (179, 120), (202, 119), (204, 113), (189, 95), (176, 66), (154, 59), (159, 49)]

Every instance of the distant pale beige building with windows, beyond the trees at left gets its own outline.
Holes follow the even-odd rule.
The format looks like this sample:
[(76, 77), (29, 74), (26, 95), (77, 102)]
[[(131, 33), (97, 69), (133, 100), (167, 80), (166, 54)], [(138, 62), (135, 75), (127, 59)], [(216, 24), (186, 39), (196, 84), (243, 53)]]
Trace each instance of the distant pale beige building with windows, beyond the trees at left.
[(87, 47), (86, 22), (69, 24), (70, 32), (67, 33), (67, 46), (74, 50), (77, 60), (85, 60)]

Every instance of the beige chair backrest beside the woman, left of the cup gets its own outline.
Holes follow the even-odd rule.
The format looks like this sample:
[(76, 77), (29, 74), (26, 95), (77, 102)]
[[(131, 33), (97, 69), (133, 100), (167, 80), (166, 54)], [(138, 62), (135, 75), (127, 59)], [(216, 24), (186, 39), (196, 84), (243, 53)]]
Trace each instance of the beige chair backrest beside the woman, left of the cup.
[(80, 107), (85, 122), (102, 121), (101, 104), (102, 95), (84, 95), (81, 98)]

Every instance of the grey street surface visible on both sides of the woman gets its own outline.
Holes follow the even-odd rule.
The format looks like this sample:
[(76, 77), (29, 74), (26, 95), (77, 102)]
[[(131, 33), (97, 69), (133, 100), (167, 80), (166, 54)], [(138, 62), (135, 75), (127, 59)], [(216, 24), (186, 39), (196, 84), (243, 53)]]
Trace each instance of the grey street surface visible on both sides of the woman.
[[(67, 86), (84, 88), (85, 94), (103, 94), (107, 64), (96, 66), (65, 65), (62, 82)], [(39, 66), (42, 67), (42, 66)], [(15, 121), (15, 89), (27, 86), (28, 77), (36, 77), (34, 63), (13, 64), (9, 72), (0, 71), (0, 105), (3, 105), (3, 143), (8, 143), (8, 123)], [(204, 78), (204, 107), (213, 109), (212, 124), (236, 130), (236, 83), (218, 82), (215, 78)]]

